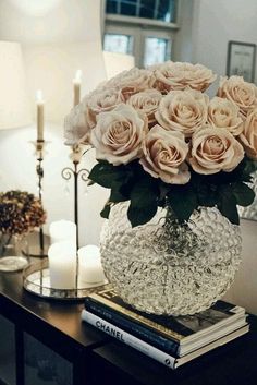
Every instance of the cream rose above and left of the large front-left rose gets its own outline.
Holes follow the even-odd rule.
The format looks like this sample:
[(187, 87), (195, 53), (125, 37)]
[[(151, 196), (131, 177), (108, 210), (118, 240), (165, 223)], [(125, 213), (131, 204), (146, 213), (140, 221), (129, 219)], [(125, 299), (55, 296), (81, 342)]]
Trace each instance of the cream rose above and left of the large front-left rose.
[(117, 88), (97, 89), (89, 94), (87, 101), (87, 118), (90, 128), (96, 125), (96, 117), (98, 113), (111, 111), (121, 103), (124, 103), (124, 98), (121, 92)]

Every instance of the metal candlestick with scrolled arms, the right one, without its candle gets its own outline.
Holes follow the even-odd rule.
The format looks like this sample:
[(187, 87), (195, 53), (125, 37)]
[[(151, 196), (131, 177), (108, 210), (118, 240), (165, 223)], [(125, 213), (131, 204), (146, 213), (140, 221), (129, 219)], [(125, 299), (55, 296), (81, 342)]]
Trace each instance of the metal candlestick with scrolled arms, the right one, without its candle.
[(62, 178), (66, 181), (71, 180), (73, 177), (74, 182), (74, 221), (76, 224), (76, 246), (79, 246), (79, 225), (78, 225), (78, 180), (81, 179), (83, 182), (88, 183), (89, 171), (86, 168), (78, 169), (78, 165), (84, 154), (86, 154), (90, 148), (83, 151), (81, 145), (72, 146), (72, 153), (70, 155), (70, 159), (73, 163), (73, 168), (65, 167), (63, 168), (61, 175)]

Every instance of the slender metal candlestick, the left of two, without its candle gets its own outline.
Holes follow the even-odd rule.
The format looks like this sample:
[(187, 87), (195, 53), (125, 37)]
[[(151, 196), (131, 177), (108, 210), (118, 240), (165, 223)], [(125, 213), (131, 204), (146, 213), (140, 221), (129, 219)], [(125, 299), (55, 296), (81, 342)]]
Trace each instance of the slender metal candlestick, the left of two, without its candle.
[[(39, 201), (41, 202), (42, 201), (42, 179), (44, 179), (42, 160), (44, 160), (44, 156), (46, 155), (46, 146), (50, 142), (44, 141), (44, 140), (37, 140), (30, 143), (33, 143), (33, 145), (35, 146), (35, 155), (37, 159), (36, 172), (38, 177), (38, 183), (37, 183), (38, 197), (39, 197)], [(40, 226), (39, 232), (38, 232), (38, 242), (36, 242), (36, 244), (34, 245), (29, 245), (28, 254), (35, 257), (47, 256), (49, 244), (50, 244), (49, 237), (44, 234), (42, 226)], [(23, 253), (26, 254), (24, 250), (23, 250)]]

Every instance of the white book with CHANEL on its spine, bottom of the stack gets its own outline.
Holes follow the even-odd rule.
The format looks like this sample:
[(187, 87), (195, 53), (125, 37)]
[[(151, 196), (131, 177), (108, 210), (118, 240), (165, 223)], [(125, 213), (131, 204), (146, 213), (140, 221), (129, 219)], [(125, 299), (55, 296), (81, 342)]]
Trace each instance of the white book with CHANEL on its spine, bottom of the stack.
[(216, 340), (211, 344), (208, 344), (208, 345), (204, 346), (203, 348), (197, 349), (187, 356), (184, 356), (182, 358), (176, 358), (176, 357), (173, 357), (173, 356), (170, 356), (170, 354), (163, 352), (160, 349), (157, 349), (156, 347), (143, 341), (142, 339), (131, 335), (130, 333), (122, 330), (121, 328), (117, 327), (115, 325), (109, 323), (106, 320), (102, 320), (98, 315), (95, 315), (85, 309), (82, 311), (82, 320), (86, 321), (87, 323), (97, 327), (98, 329), (107, 333), (111, 337), (114, 337), (115, 339), (120, 340), (121, 342), (124, 342), (124, 344), (131, 346), (132, 348), (139, 350), (144, 354), (149, 356), (154, 360), (161, 362), (162, 364), (164, 364), (166, 366), (168, 366), (170, 369), (175, 369), (175, 368), (182, 365), (183, 363), (186, 363), (186, 362), (193, 360), (194, 358), (208, 352), (209, 350), (212, 350), (219, 346), (222, 346), (222, 345), (242, 336), (243, 334), (245, 334), (249, 330), (249, 325), (245, 325), (245, 326), (241, 327), (240, 329), (237, 329), (237, 330), (235, 330), (235, 332), (233, 332), (222, 338), (219, 338), (218, 340)]

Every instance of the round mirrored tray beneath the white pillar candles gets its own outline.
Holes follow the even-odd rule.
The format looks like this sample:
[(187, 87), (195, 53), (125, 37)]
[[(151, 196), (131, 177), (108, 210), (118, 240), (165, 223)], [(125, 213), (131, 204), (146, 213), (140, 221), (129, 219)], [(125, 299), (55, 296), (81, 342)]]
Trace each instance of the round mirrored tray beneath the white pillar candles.
[(23, 287), (25, 290), (41, 297), (53, 300), (83, 300), (96, 290), (109, 288), (108, 280), (96, 284), (88, 284), (76, 289), (54, 289), (50, 286), (48, 260), (32, 264), (23, 270)]

